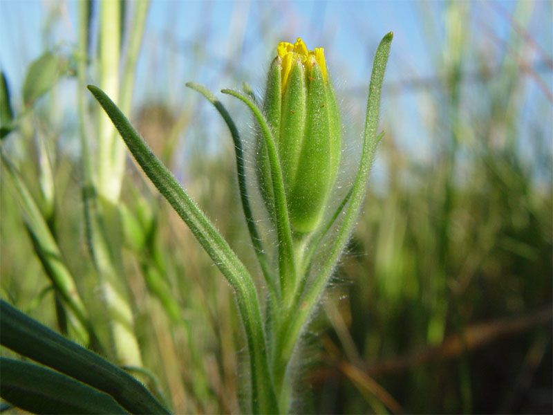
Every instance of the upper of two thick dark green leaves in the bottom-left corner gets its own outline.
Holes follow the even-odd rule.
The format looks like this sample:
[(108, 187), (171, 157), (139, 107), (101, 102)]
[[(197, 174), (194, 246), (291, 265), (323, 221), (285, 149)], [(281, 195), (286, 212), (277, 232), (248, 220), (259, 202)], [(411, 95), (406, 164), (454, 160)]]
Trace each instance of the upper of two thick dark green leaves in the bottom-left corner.
[(133, 414), (169, 414), (138, 380), (0, 300), (2, 346), (112, 396)]

